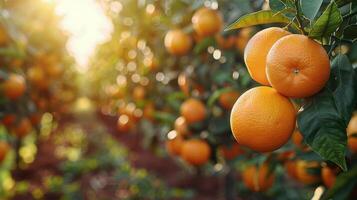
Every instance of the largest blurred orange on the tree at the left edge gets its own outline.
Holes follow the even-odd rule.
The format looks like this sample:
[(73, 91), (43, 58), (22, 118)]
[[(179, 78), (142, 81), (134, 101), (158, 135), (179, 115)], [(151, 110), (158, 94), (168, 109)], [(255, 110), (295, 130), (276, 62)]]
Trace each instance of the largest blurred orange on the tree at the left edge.
[(18, 99), (26, 90), (24, 77), (18, 74), (10, 74), (3, 83), (3, 90), (7, 98), (11, 100)]

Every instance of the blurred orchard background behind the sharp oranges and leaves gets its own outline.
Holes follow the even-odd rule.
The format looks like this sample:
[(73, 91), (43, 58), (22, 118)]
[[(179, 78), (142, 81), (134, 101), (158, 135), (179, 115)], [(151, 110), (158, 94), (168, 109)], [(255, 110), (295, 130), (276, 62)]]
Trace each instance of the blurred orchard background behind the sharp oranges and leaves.
[[(298, 131), (267, 154), (231, 134), (230, 109), (258, 85), (244, 48), (267, 26), (223, 30), (262, 9), (0, 0), (0, 199), (319, 199), (331, 165)], [(356, 45), (335, 51), (356, 63)]]

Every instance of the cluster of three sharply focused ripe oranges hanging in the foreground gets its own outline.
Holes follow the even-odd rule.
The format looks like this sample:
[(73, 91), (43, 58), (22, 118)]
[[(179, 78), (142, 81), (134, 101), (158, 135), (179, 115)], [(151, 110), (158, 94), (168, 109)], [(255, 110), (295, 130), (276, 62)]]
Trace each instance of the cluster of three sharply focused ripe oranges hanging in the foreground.
[(309, 97), (324, 87), (329, 57), (307, 36), (272, 27), (249, 40), (244, 60), (251, 77), (264, 86), (248, 90), (234, 104), (232, 132), (239, 144), (271, 152), (295, 129), (297, 111), (289, 98)]

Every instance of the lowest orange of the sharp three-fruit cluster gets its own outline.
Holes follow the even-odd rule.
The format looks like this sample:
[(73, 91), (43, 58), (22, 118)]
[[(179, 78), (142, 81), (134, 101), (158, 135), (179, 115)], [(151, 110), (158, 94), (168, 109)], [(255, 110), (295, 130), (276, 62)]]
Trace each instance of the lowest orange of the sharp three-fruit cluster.
[(258, 152), (283, 146), (295, 129), (296, 110), (290, 100), (275, 89), (255, 87), (234, 104), (230, 123), (239, 144)]

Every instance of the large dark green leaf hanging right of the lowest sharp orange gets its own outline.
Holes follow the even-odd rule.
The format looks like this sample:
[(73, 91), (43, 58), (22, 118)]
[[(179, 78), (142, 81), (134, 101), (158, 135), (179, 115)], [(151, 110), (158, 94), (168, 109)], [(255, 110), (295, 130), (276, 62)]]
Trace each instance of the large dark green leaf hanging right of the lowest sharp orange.
[(325, 88), (307, 100), (298, 115), (298, 127), (308, 144), (323, 159), (347, 170), (346, 127), (356, 104), (355, 74), (347, 56), (332, 62)]

